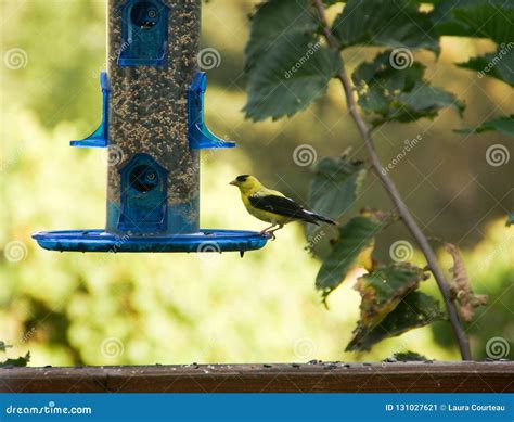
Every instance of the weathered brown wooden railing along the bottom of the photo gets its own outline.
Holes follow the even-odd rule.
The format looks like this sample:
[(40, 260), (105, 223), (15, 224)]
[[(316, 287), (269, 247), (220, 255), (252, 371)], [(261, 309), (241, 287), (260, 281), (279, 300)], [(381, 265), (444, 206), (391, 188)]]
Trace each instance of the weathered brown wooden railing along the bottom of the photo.
[(0, 392), (514, 392), (514, 362), (190, 365), (0, 369)]

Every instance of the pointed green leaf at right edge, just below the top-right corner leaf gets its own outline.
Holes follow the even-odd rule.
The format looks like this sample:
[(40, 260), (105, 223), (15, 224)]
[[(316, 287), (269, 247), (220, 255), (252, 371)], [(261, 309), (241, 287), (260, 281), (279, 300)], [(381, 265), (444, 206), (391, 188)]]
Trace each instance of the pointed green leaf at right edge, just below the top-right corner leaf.
[(502, 44), (494, 53), (472, 57), (459, 67), (476, 71), (479, 78), (490, 76), (514, 86), (514, 42)]

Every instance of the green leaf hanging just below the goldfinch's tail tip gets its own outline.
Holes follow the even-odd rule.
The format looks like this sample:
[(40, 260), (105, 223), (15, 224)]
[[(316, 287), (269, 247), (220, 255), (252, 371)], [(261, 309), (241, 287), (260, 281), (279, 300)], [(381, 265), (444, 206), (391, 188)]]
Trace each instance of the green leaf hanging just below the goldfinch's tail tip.
[(361, 215), (339, 228), (339, 238), (316, 278), (316, 286), (322, 291), (323, 300), (345, 280), (348, 271), (358, 264), (359, 255), (372, 245), (386, 223), (387, 219), (381, 216)]

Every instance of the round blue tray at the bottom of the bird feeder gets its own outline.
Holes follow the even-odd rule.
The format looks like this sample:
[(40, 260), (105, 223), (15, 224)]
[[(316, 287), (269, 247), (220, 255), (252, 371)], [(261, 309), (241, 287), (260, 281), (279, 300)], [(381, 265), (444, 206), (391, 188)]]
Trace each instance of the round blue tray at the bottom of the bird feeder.
[(115, 235), (103, 230), (40, 231), (33, 234), (39, 246), (61, 252), (235, 252), (260, 250), (267, 234), (245, 230), (202, 230), (165, 236)]

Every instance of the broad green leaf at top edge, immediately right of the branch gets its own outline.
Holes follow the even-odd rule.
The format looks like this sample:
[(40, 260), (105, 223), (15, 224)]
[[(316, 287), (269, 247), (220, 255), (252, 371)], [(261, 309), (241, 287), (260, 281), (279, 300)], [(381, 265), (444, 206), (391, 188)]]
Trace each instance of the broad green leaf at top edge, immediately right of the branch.
[(342, 49), (364, 44), (439, 53), (429, 16), (410, 0), (349, 0), (335, 18), (332, 34)]

